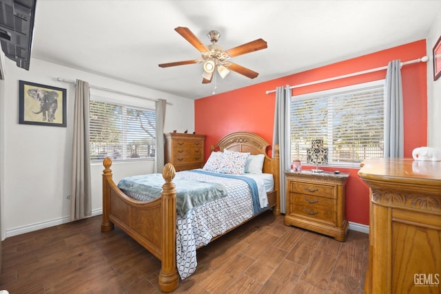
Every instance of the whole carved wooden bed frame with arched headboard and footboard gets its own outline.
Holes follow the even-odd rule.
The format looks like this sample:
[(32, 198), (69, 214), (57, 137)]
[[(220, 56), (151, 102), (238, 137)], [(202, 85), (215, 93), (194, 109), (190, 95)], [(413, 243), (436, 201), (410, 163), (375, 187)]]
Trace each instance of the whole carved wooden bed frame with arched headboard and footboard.
[[(274, 175), (274, 191), (268, 193), (269, 206), (275, 215), (280, 214), (279, 157), (278, 145), (274, 147), (274, 158), (267, 156), (269, 143), (249, 132), (235, 132), (220, 139), (212, 151), (224, 149), (250, 154), (265, 154), (263, 172)], [(173, 165), (163, 168), (163, 192), (160, 198), (143, 202), (126, 196), (112, 180), (112, 160), (103, 160), (103, 222), (101, 231), (114, 229), (114, 224), (139, 242), (145, 249), (161, 260), (158, 277), (163, 292), (174, 291), (179, 283), (176, 269), (176, 190), (172, 182), (175, 176)], [(267, 210), (265, 209), (265, 211)], [(263, 212), (263, 211), (262, 211)], [(231, 230), (230, 230), (231, 231)], [(217, 236), (218, 238), (220, 236)], [(214, 238), (214, 239), (216, 239)], [(214, 240), (213, 239), (213, 240)]]

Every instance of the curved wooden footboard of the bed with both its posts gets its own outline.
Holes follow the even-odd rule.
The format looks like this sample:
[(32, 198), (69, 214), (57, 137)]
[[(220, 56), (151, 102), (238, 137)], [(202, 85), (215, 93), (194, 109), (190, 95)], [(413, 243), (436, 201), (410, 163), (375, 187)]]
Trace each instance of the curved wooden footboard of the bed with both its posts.
[(114, 224), (161, 260), (159, 288), (171, 292), (179, 283), (176, 269), (176, 190), (172, 182), (173, 165), (163, 168), (161, 198), (150, 202), (126, 196), (112, 180), (112, 160), (103, 160), (103, 222), (101, 231), (111, 231)]

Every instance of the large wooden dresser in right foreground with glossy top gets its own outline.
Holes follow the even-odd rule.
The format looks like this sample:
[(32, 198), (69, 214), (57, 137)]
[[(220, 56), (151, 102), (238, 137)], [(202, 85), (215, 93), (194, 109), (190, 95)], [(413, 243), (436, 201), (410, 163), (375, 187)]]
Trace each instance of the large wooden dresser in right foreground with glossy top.
[(365, 293), (441, 293), (441, 162), (373, 158)]

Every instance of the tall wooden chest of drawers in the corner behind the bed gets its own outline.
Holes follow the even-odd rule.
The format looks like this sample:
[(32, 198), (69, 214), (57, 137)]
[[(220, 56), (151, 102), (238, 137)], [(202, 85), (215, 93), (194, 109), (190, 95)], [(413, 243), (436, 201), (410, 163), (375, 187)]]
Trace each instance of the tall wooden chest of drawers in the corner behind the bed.
[(176, 171), (203, 167), (205, 135), (168, 133), (164, 140), (165, 163), (170, 162)]

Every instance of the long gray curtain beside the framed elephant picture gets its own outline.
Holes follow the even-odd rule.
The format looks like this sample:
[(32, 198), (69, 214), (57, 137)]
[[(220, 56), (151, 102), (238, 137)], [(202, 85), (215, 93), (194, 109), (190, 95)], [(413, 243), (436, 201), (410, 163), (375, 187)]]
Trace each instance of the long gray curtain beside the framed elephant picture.
[(72, 146), (72, 188), (70, 219), (92, 215), (89, 152), (89, 83), (76, 80), (74, 102), (74, 140)]

